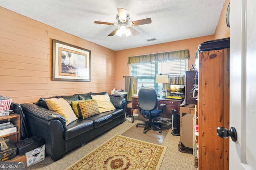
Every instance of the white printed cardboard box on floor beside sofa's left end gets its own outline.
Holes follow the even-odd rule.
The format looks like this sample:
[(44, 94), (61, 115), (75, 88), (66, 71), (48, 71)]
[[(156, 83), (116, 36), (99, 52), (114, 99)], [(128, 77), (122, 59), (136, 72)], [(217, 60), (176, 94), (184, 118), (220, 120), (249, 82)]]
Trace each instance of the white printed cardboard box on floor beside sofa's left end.
[(42, 145), (42, 147), (38, 147), (34, 150), (26, 152), (25, 154), (26, 154), (27, 167), (44, 160), (44, 157), (45, 157), (44, 151), (45, 151), (45, 145)]

